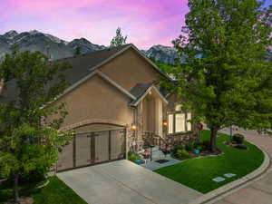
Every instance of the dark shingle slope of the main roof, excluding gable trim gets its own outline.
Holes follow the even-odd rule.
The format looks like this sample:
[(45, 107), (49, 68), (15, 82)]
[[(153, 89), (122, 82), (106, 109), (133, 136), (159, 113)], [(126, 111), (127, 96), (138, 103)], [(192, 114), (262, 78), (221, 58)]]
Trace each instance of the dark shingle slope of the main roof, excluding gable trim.
[[(130, 46), (131, 44), (124, 44), (118, 47), (113, 47), (111, 49), (104, 49), (101, 51), (96, 51), (93, 53), (86, 53), (83, 55), (68, 57), (57, 62), (68, 62), (72, 64), (72, 68), (63, 72), (68, 83), (73, 85), (81, 81), (85, 76), (92, 73), (92, 67), (103, 63), (115, 53), (119, 53), (124, 48)], [(53, 83), (53, 82), (52, 82)], [(5, 83), (5, 87), (2, 90), (2, 96), (0, 97), (0, 102), (8, 103), (15, 102), (18, 98), (19, 90), (16, 87), (15, 80), (11, 80)]]

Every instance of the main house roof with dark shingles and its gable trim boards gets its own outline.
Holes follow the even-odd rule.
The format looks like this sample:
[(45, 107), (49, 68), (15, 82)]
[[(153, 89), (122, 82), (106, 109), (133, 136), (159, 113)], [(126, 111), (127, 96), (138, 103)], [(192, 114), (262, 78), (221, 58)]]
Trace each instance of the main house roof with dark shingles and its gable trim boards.
[[(118, 47), (113, 48), (107, 48), (101, 51), (96, 51), (93, 53), (86, 53), (79, 56), (74, 57), (68, 57), (61, 60), (57, 60), (57, 62), (68, 62), (72, 64), (72, 69), (66, 70), (63, 72), (65, 75), (66, 80), (68, 83), (71, 84), (71, 86), (63, 92), (63, 94), (66, 94), (67, 92), (72, 91), (75, 87), (80, 85), (81, 83), (85, 82), (89, 78), (91, 78), (94, 74), (97, 73), (97, 70), (99, 67), (102, 66), (104, 63), (108, 63), (113, 58), (117, 57), (121, 53), (125, 52), (127, 49), (132, 48), (137, 53), (139, 53), (148, 63), (151, 64), (151, 66), (161, 75), (167, 77), (170, 79), (165, 73), (162, 73), (158, 66), (151, 62), (150, 59), (148, 59), (146, 56), (144, 56), (141, 51), (139, 51), (133, 44), (124, 44)], [(102, 73), (100, 73), (102, 75)], [(106, 76), (103, 75), (103, 78)], [(107, 79), (108, 81), (111, 79)], [(171, 79), (170, 79), (171, 80)], [(115, 86), (119, 86), (118, 84), (115, 84)], [(122, 89), (121, 86), (117, 87), (119, 89)], [(123, 90), (125, 91), (125, 90)], [(134, 95), (130, 92), (125, 93), (131, 97), (131, 99), (134, 99)], [(15, 80), (11, 80), (7, 83), (5, 83), (5, 87), (2, 90), (3, 98), (0, 98), (0, 102), (8, 103), (8, 102), (16, 102), (18, 98), (19, 91), (16, 87)], [(62, 94), (62, 95), (63, 95)], [(130, 95), (131, 94), (131, 95)], [(61, 95), (61, 96), (62, 96)], [(59, 97), (61, 97), (59, 96)], [(59, 98), (58, 97), (58, 98)]]

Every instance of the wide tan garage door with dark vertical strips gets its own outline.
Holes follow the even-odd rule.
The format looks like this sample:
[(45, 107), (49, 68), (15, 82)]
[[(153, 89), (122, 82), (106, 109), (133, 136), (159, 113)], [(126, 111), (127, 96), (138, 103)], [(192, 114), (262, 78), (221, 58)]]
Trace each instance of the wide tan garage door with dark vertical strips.
[(73, 142), (59, 154), (57, 171), (121, 160), (125, 153), (125, 129), (76, 133)]

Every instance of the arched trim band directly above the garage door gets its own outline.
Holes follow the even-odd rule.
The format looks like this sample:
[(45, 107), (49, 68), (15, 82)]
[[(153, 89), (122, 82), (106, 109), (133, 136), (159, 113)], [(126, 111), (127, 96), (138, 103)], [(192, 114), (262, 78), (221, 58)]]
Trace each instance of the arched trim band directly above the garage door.
[(110, 119), (89, 119), (89, 120), (85, 120), (85, 121), (80, 121), (80, 122), (76, 122), (73, 123), (71, 125), (67, 125), (63, 128), (61, 128), (61, 130), (63, 131), (68, 131), (68, 130), (73, 130), (75, 128), (79, 128), (85, 125), (91, 125), (91, 124), (110, 124), (110, 125), (116, 125), (116, 126), (121, 126), (121, 127), (128, 127), (129, 124), (123, 122), (123, 121), (115, 121), (115, 120), (110, 120)]

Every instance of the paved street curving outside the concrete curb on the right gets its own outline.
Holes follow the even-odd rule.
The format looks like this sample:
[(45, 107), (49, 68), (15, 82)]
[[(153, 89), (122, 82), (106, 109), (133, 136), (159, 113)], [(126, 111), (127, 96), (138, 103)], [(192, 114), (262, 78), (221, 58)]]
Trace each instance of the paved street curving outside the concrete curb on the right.
[[(228, 130), (225, 130), (225, 132)], [(228, 131), (229, 132), (229, 131)], [(260, 146), (272, 157), (272, 137), (259, 135), (256, 131), (239, 130), (235, 132), (243, 133), (247, 141)], [(234, 133), (235, 133), (234, 132)], [(228, 195), (216, 204), (271, 204), (272, 203), (272, 167), (270, 164), (267, 174), (260, 180), (253, 182), (245, 188)]]

